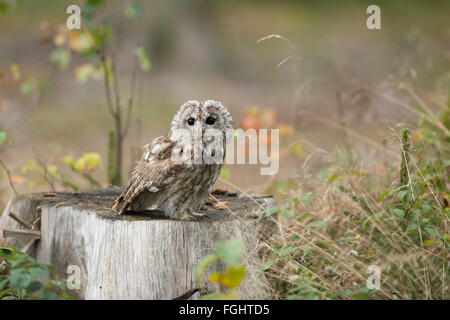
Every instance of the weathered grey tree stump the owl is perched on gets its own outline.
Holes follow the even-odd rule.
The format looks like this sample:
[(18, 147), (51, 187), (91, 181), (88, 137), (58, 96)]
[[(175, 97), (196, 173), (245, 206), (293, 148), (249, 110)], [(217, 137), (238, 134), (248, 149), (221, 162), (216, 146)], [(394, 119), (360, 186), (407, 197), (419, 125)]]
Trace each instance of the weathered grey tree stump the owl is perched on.
[[(216, 192), (214, 197), (228, 209), (207, 203), (201, 220), (177, 221), (155, 212), (117, 215), (110, 208), (119, 193), (109, 188), (12, 198), (0, 217), (0, 244), (54, 264), (59, 279), (67, 279), (68, 270), (77, 268), (81, 288), (69, 293), (80, 299), (198, 299), (198, 292), (189, 294), (197, 288), (197, 263), (214, 251), (215, 243), (240, 238), (247, 277), (238, 289), (239, 298), (270, 296), (259, 271), (258, 250), (271, 227), (257, 215), (272, 205), (271, 197)], [(203, 282), (222, 267), (211, 266)]]

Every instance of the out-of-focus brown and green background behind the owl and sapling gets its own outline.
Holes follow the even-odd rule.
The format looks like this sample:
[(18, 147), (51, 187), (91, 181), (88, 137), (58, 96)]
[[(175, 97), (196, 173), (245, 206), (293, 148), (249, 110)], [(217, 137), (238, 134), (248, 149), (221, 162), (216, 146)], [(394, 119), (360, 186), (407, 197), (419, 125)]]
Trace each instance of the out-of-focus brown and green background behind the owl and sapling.
[[(89, 2), (2, 1), (7, 8), (0, 20), (0, 126), (15, 140), (3, 157), (20, 190), (27, 189), (19, 176), (28, 160), (60, 165), (62, 156), (77, 158), (86, 152), (100, 153), (102, 166), (94, 176), (105, 181), (108, 132), (114, 123), (104, 83), (86, 67), (89, 57), (80, 53), (86, 45), (83, 33), (65, 30), (66, 7), (83, 8)], [(435, 103), (446, 104), (450, 4), (379, 3), (379, 31), (365, 26), (367, 1), (101, 4), (95, 19), (111, 28), (122, 100), (128, 98), (136, 45), (151, 60), (151, 71), (137, 75), (135, 108), (124, 141), (125, 175), (140, 153), (137, 148), (166, 133), (174, 112), (188, 99), (222, 101), (236, 127), (242, 127), (246, 115), (270, 109), (268, 124), (285, 125), (285, 145), (295, 143), (297, 155), (282, 157), (281, 179), (291, 176), (297, 160), (315, 148), (343, 145), (336, 124), (381, 142), (389, 126), (415, 116), (374, 93), (380, 86), (386, 92), (387, 86), (397, 90), (398, 83), (406, 82), (427, 94), (433, 90)], [(270, 34), (286, 37), (293, 48), (280, 39), (257, 43)], [(277, 68), (293, 55), (299, 59)], [(37, 90), (39, 94), (32, 92)], [(405, 90), (399, 94), (408, 95)], [(370, 147), (355, 136), (351, 142)], [(361, 156), (373, 163), (386, 154), (368, 151)], [(243, 188), (273, 179), (260, 176), (256, 167), (230, 169), (230, 181)]]

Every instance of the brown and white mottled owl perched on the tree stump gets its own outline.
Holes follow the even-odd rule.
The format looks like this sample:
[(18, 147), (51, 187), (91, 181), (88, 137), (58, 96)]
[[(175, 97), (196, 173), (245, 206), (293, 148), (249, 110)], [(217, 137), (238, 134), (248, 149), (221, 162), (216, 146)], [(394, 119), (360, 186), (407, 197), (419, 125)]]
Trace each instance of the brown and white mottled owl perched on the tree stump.
[(119, 214), (157, 210), (170, 219), (197, 219), (232, 136), (232, 117), (220, 102), (186, 102), (175, 114), (168, 135), (144, 146), (113, 210)]

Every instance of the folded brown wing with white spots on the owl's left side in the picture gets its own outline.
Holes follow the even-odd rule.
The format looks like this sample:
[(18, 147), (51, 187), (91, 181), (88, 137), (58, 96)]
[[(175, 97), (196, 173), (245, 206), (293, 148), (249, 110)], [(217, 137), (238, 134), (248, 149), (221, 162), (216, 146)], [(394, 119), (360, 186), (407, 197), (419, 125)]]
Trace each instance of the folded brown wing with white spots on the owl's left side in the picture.
[(113, 210), (119, 214), (130, 210), (130, 204), (142, 192), (156, 193), (173, 174), (175, 167), (171, 160), (174, 142), (167, 137), (159, 137), (144, 146), (141, 160), (134, 169), (131, 179), (122, 195), (114, 203)]

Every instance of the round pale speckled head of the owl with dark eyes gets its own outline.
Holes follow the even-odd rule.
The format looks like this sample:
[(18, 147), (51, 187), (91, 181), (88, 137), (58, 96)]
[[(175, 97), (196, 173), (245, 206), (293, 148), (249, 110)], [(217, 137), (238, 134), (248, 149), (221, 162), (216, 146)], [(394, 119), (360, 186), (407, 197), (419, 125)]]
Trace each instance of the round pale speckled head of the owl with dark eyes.
[(220, 102), (190, 100), (183, 104), (172, 120), (169, 136), (177, 141), (184, 139), (180, 132), (188, 132), (193, 141), (208, 144), (216, 141), (211, 137), (221, 134), (226, 144), (233, 135), (233, 119), (230, 112)]

